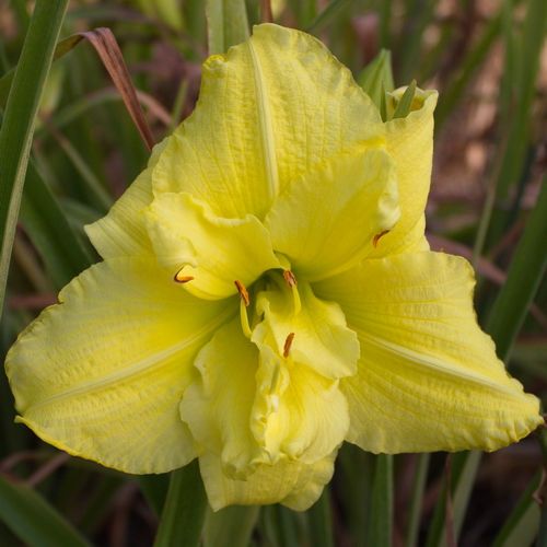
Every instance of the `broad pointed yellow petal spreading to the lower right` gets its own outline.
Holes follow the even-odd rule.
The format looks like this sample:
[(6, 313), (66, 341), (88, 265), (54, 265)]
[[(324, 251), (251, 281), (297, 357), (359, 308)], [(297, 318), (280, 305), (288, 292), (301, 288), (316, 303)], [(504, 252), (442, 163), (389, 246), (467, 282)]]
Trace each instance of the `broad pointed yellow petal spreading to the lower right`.
[(473, 286), (466, 260), (426, 252), (366, 260), (315, 288), (361, 342), (358, 373), (341, 380), (349, 441), (374, 453), (492, 451), (543, 423), (478, 327)]

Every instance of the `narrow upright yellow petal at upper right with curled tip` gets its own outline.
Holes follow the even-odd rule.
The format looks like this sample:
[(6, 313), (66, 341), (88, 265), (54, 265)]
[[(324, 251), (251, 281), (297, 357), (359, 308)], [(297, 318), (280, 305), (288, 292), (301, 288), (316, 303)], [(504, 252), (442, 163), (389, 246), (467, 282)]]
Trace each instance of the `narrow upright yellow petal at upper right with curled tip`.
[[(405, 89), (395, 94), (401, 96)], [(424, 242), (423, 211), (431, 184), (433, 159), (433, 110), (437, 91), (417, 90), (408, 116), (385, 124), (387, 152), (395, 161), (400, 219), (395, 228), (379, 241), (371, 257), (428, 248)]]

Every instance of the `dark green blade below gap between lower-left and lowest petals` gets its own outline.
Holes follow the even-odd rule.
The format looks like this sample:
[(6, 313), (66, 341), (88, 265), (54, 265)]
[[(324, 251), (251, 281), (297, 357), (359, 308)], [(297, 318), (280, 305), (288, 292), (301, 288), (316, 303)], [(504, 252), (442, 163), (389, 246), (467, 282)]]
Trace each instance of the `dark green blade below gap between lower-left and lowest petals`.
[(198, 461), (171, 474), (167, 499), (154, 547), (198, 546), (207, 510), (207, 497)]

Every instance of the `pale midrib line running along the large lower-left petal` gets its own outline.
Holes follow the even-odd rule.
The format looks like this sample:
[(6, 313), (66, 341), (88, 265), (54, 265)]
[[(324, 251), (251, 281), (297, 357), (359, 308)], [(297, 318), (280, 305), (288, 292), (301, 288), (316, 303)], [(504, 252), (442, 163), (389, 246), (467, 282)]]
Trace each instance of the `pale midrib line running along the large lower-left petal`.
[(110, 374), (107, 374), (106, 376), (103, 376), (98, 380), (85, 382), (84, 384), (69, 388), (62, 393), (59, 393), (58, 395), (53, 395), (50, 397), (47, 397), (43, 400), (39, 400), (38, 403), (35, 403), (31, 405), (27, 409), (25, 409), (24, 412), (26, 414), (30, 410), (35, 410), (36, 408), (43, 407), (50, 405), (51, 403), (57, 403), (62, 399), (68, 399), (71, 397), (74, 397), (77, 395), (82, 395), (82, 394), (88, 394), (94, 391), (100, 391), (104, 387), (107, 387), (109, 385), (116, 384), (121, 380), (126, 380), (131, 376), (137, 376), (141, 372), (149, 372), (151, 369), (153, 369), (156, 365), (162, 364), (162, 362), (183, 351), (184, 349), (188, 348), (196, 341), (198, 341), (200, 338), (203, 338), (206, 335), (209, 333), (212, 333), (216, 330), (220, 325), (222, 325), (230, 315), (233, 314), (233, 310), (228, 310), (218, 317), (214, 318), (214, 321), (209, 322), (207, 325), (205, 325), (202, 328), (197, 330), (193, 336), (185, 338), (184, 340), (181, 340), (177, 344), (174, 344), (170, 348), (165, 348), (162, 351), (159, 351), (156, 353), (153, 353), (152, 356), (149, 356), (144, 359), (141, 359), (140, 361), (137, 361), (136, 363), (131, 364), (130, 366), (124, 368), (123, 370), (115, 371)]

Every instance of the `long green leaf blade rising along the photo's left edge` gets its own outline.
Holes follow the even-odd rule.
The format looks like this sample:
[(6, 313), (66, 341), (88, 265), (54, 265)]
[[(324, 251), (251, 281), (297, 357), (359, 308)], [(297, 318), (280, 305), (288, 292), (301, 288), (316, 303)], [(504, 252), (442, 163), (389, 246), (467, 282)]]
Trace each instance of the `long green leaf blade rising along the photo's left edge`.
[(38, 105), (68, 0), (37, 0), (0, 128), (0, 309)]

